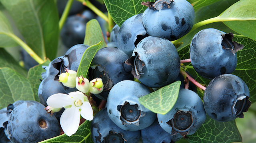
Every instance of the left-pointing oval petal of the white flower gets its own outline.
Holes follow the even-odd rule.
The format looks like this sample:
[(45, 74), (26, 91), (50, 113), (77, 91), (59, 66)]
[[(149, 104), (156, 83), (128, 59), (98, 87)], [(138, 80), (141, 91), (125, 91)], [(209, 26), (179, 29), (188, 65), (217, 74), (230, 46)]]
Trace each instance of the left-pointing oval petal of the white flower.
[(68, 94), (57, 93), (48, 97), (46, 103), (48, 106), (51, 106), (53, 108), (62, 108), (64, 106), (72, 105), (75, 102), (74, 99)]

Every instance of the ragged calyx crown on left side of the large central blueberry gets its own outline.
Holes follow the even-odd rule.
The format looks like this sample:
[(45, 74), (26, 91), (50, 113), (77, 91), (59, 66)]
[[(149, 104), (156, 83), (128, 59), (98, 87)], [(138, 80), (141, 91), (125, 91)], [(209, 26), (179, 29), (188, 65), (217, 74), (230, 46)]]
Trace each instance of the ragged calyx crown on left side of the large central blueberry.
[(130, 57), (125, 63), (132, 66), (132, 75), (134, 78), (140, 79), (140, 75), (143, 74), (142, 68), (145, 66), (145, 63), (140, 60), (140, 56), (135, 53), (135, 56)]

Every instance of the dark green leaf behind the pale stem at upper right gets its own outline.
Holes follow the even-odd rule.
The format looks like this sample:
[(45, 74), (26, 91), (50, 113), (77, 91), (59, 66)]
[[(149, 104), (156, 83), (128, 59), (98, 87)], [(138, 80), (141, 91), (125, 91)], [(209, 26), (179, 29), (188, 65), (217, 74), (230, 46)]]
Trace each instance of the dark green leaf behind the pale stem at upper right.
[[(224, 10), (229, 8), (232, 4), (234, 4), (237, 1), (238, 0), (221, 0), (214, 4), (210, 4), (209, 6), (200, 8), (199, 10), (197, 10), (195, 12), (194, 24), (201, 22), (203, 20), (207, 20), (207, 19), (219, 16)], [(234, 34), (238, 34), (235, 31), (233, 31), (232, 29), (230, 29), (228, 26), (223, 24), (222, 22), (215, 22), (215, 23), (203, 25), (203, 26), (195, 29), (194, 31), (191, 31), (186, 37), (184, 37), (184, 39), (182, 39), (181, 42), (183, 42), (183, 44), (178, 49), (188, 45), (196, 33), (198, 33), (200, 30), (206, 29), (206, 28), (215, 28), (220, 31), (224, 31), (226, 33), (232, 32)]]

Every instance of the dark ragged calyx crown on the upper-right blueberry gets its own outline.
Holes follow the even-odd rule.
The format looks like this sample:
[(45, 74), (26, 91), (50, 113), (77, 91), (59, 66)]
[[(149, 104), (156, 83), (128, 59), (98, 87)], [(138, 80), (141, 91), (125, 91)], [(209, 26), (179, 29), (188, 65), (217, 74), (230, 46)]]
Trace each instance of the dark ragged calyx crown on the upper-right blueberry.
[(244, 45), (238, 44), (236, 41), (232, 41), (234, 38), (233, 33), (226, 33), (222, 36), (222, 48), (223, 49), (231, 49), (233, 54), (236, 54), (237, 51), (242, 50)]

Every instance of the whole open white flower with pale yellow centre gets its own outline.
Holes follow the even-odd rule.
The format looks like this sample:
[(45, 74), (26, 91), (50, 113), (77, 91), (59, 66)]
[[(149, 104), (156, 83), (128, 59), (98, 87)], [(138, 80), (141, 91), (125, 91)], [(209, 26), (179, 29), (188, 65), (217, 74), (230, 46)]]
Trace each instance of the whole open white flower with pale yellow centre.
[(66, 108), (60, 117), (60, 125), (68, 136), (76, 133), (79, 127), (80, 114), (86, 120), (91, 121), (93, 119), (92, 106), (87, 96), (80, 91), (69, 94), (53, 94), (46, 102), (52, 108)]

